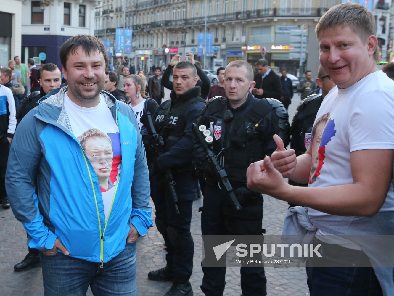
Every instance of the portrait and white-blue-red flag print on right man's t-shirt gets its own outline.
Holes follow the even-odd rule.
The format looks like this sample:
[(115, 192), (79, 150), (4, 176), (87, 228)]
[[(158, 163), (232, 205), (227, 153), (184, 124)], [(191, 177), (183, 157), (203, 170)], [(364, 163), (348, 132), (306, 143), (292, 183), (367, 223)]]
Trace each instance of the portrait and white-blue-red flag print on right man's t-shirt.
[(335, 136), (335, 122), (330, 119), (330, 113), (318, 118), (312, 129), (312, 166), (309, 174), (309, 184), (320, 176), (320, 170), (325, 160), (325, 147)]

